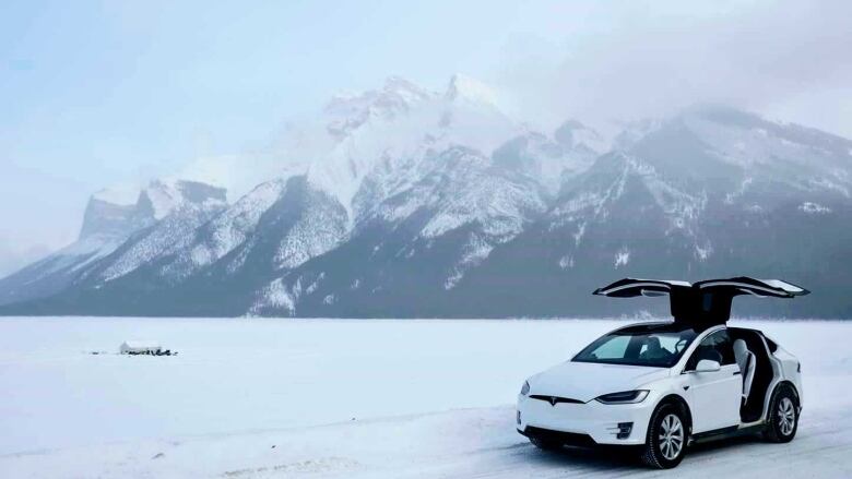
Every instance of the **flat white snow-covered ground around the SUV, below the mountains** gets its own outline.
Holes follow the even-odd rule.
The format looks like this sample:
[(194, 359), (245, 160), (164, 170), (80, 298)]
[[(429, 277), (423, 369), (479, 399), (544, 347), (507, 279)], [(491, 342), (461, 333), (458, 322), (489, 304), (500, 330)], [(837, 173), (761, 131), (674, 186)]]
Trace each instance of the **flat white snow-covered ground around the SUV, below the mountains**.
[[(698, 446), (678, 471), (852, 477), (852, 322), (738, 323), (802, 359), (798, 435)], [(3, 319), (0, 477), (653, 476), (514, 431), (523, 380), (616, 324)]]

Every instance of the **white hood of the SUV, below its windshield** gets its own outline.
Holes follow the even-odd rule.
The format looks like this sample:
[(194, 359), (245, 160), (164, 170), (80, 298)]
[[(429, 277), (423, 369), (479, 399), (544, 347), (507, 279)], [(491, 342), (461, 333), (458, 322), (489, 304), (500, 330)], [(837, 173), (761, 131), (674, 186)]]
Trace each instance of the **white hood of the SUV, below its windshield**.
[(531, 378), (530, 395), (588, 403), (604, 394), (636, 390), (667, 375), (667, 368), (568, 361)]

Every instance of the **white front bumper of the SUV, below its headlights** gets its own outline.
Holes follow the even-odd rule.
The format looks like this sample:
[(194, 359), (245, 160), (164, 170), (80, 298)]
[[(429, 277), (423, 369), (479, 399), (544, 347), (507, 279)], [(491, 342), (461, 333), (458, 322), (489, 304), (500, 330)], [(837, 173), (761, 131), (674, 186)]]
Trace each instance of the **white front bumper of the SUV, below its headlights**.
[[(644, 444), (654, 402), (606, 405), (596, 400), (583, 404), (551, 403), (518, 396), (517, 428), (523, 435), (548, 435), (569, 445)], [(630, 433), (619, 435), (619, 424), (632, 423)], [(591, 443), (584, 438), (591, 439)], [(560, 439), (561, 438), (561, 439)]]

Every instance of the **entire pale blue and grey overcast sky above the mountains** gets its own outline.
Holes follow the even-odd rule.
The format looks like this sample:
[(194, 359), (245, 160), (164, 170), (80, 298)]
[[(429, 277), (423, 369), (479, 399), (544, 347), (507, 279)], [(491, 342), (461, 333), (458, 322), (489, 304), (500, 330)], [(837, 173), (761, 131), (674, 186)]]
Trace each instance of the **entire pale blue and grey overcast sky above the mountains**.
[(340, 91), (463, 72), (541, 125), (721, 101), (852, 137), (852, 2), (0, 3), (0, 274), (87, 196), (262, 148)]

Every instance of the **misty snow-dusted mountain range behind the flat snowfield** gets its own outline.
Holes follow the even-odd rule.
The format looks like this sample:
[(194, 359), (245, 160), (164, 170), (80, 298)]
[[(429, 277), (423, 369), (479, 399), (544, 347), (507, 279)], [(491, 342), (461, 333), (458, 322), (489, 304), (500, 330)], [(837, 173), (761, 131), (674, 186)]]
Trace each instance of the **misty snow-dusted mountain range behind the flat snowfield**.
[(391, 77), (332, 98), (262, 169), (217, 161), (93, 195), (75, 243), (0, 279), (0, 313), (622, 314), (667, 304), (590, 292), (749, 275), (814, 294), (735, 313), (852, 314), (852, 141), (724, 106), (536, 131), (474, 79)]

